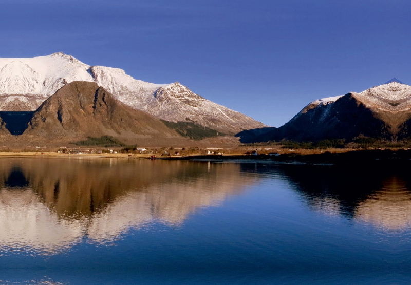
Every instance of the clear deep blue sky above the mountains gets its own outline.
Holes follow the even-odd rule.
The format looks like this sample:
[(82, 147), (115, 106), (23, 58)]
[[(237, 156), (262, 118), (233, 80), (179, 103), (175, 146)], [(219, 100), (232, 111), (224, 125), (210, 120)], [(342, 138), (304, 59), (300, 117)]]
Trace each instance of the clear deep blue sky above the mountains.
[(310, 101), (411, 83), (407, 1), (2, 0), (0, 56), (62, 51), (271, 126)]

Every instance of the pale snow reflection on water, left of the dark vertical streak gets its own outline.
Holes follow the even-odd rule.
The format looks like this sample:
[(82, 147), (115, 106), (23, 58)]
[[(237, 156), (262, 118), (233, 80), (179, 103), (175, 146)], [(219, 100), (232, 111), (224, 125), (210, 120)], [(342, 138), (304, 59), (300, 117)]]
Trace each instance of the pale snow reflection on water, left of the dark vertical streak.
[(61, 219), (40, 202), (31, 188), (1, 189), (0, 244), (2, 248), (25, 248), (44, 253), (60, 251), (78, 242), (87, 219)]

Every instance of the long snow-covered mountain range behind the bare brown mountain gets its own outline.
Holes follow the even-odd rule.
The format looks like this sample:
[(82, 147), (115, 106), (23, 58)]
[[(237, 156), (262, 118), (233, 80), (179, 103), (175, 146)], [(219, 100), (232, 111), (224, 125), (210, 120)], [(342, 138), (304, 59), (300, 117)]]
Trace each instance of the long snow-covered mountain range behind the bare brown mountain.
[(122, 69), (89, 66), (62, 52), (35, 58), (0, 58), (0, 111), (34, 111), (73, 81), (94, 82), (124, 104), (166, 121), (188, 118), (227, 133), (266, 127), (178, 82), (161, 85), (135, 80)]

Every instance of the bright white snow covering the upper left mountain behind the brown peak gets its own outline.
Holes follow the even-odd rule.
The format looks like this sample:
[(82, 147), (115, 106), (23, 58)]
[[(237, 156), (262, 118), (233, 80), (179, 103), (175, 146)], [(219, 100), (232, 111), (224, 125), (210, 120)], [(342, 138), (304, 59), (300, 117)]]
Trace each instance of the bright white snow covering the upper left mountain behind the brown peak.
[(73, 81), (96, 82), (128, 99), (124, 102), (128, 105), (133, 100), (124, 98), (122, 93), (164, 86), (134, 80), (119, 68), (84, 64), (63, 52), (35, 58), (0, 58), (0, 109), (35, 110), (55, 91)]

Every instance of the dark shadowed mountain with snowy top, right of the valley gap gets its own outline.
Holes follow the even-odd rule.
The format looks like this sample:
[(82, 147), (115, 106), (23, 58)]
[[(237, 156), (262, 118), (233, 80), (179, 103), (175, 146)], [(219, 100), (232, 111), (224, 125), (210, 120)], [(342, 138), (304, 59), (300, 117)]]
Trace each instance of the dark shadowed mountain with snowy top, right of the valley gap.
[(241, 141), (351, 141), (358, 136), (396, 141), (411, 136), (410, 119), (411, 86), (393, 79), (361, 93), (315, 100), (284, 126)]

